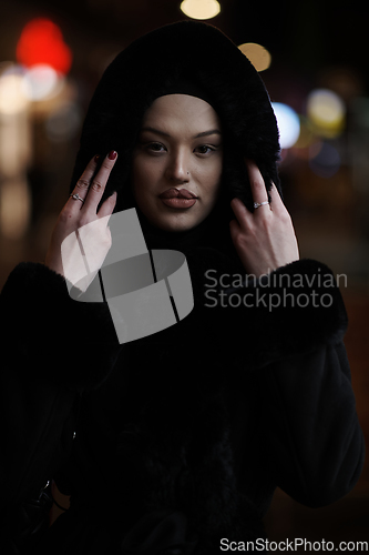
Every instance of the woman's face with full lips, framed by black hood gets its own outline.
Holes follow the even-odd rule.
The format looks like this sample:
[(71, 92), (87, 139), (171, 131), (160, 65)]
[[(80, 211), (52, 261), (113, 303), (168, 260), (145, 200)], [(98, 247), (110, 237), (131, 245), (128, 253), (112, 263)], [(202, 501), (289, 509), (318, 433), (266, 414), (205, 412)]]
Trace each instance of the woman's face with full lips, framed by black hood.
[(147, 220), (173, 232), (199, 224), (218, 198), (222, 168), (215, 110), (187, 94), (157, 98), (144, 114), (132, 163), (133, 194)]

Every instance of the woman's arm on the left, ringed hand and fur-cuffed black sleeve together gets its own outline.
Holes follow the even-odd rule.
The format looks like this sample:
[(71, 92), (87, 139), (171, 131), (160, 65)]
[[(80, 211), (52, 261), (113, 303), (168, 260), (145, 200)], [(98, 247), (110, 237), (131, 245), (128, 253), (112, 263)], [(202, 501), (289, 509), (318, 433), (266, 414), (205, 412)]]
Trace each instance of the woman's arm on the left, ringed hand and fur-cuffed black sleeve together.
[(106, 303), (73, 301), (61, 263), (65, 236), (90, 221), (103, 222), (91, 246), (98, 266), (104, 259), (110, 239), (106, 222), (115, 199), (107, 199), (99, 212), (98, 204), (113, 164), (106, 157), (93, 178), (96, 160), (90, 162), (76, 185), (85, 202), (68, 200), (47, 265), (19, 264), (0, 295), (4, 507), (37, 494), (53, 474), (71, 446), (79, 394), (99, 386), (121, 350)]

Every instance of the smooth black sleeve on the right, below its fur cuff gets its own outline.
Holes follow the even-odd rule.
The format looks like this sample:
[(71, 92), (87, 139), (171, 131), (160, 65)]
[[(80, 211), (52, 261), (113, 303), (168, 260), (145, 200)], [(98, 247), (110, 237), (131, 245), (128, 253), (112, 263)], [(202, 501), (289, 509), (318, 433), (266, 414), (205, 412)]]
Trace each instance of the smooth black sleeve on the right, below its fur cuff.
[(258, 381), (276, 484), (311, 507), (349, 493), (362, 470), (365, 442), (344, 343), (279, 361)]

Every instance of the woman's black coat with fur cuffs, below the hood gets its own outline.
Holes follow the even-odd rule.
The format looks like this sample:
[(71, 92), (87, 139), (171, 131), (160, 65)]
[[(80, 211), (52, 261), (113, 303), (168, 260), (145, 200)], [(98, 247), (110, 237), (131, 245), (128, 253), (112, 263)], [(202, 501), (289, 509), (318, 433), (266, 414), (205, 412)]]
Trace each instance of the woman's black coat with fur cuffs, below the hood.
[[(197, 284), (208, 269), (229, 273), (211, 249), (187, 261)], [(1, 295), (3, 509), (52, 476), (72, 493), (37, 553), (215, 554), (222, 538), (265, 537), (276, 486), (309, 506), (353, 487), (363, 440), (341, 342), (346, 312), (324, 264), (298, 261), (271, 276), (297, 284), (303, 273), (324, 275), (326, 286), (289, 286), (295, 309), (271, 312), (278, 284), (236, 291), (252, 295), (248, 305), (265, 295), (267, 307), (232, 307), (229, 291), (211, 307), (203, 279), (187, 319), (117, 346), (105, 306), (72, 301), (41, 264), (16, 268)], [(299, 307), (312, 290), (320, 305)]]

